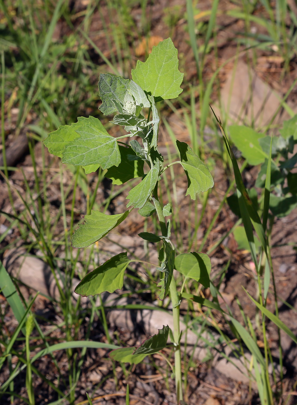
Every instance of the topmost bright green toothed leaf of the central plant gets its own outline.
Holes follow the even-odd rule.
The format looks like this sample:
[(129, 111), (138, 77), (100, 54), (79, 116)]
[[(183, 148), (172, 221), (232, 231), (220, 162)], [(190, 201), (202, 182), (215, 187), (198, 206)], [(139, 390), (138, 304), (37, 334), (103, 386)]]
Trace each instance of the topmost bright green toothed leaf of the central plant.
[(152, 96), (166, 100), (182, 92), (180, 85), (184, 75), (178, 70), (177, 49), (171, 38), (153, 47), (146, 62), (138, 60), (131, 73), (132, 79)]

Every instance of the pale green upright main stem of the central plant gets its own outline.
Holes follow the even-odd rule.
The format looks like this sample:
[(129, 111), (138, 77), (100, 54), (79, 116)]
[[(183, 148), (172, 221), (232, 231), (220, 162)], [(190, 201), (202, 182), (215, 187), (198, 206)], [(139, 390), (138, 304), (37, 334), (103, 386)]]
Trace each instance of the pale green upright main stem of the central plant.
[[(153, 203), (160, 222), (161, 232), (163, 236), (167, 236), (167, 227), (163, 210), (158, 197), (158, 183), (153, 192)], [(179, 298), (176, 291), (176, 283), (174, 277), (170, 282), (170, 296), (172, 301), (172, 314), (173, 314), (173, 338), (174, 338), (174, 370), (175, 370), (175, 385), (176, 385), (176, 401), (179, 404), (182, 401), (182, 368), (181, 368), (181, 355), (180, 355), (180, 325), (179, 325)]]

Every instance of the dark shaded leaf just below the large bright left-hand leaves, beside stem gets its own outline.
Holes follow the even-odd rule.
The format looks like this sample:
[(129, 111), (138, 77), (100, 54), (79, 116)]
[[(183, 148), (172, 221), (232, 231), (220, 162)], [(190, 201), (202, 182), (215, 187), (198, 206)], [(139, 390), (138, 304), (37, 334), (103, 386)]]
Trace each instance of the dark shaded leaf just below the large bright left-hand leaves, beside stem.
[(110, 167), (105, 173), (105, 177), (112, 179), (112, 184), (123, 184), (135, 177), (142, 177), (143, 173), (143, 160), (129, 160), (129, 155), (136, 156), (136, 153), (131, 147), (119, 145), (121, 153), (121, 163), (119, 166)]

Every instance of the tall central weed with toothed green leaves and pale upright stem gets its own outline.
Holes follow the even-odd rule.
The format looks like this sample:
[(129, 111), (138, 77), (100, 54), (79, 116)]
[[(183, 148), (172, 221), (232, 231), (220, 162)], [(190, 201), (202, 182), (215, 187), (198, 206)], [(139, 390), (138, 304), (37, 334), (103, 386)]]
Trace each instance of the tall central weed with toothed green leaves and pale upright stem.
[[(185, 277), (191, 277), (208, 287), (211, 264), (209, 257), (202, 253), (176, 256), (170, 240), (170, 219), (165, 220), (171, 213), (171, 207), (162, 207), (158, 197), (159, 181), (171, 164), (163, 166), (163, 156), (157, 149), (159, 115), (156, 103), (176, 98), (182, 92), (180, 84), (183, 79), (183, 74), (178, 70), (177, 49), (170, 38), (153, 47), (146, 62), (137, 62), (136, 68), (132, 70), (132, 79), (105, 73), (100, 75), (98, 83), (102, 100), (100, 110), (104, 115), (117, 113), (112, 123), (124, 126), (128, 135), (115, 138), (108, 134), (99, 119), (78, 117), (77, 122), (71, 126), (60, 126), (51, 132), (44, 143), (51, 153), (62, 158), (62, 162), (83, 166), (86, 173), (94, 172), (101, 166), (106, 170), (105, 176), (112, 179), (114, 184), (123, 184), (137, 177), (142, 179), (129, 191), (128, 209), (124, 213), (107, 215), (100, 211), (91, 211), (91, 215), (85, 215), (85, 223), (74, 232), (72, 246), (87, 247), (103, 238), (124, 221), (133, 209), (138, 209), (143, 216), (157, 214), (161, 235), (142, 232), (139, 236), (147, 241), (159, 241), (163, 245), (159, 254), (161, 264), (157, 268), (161, 272), (159, 299), (163, 300), (170, 292), (174, 330), (172, 333), (165, 325), (157, 335), (144, 341), (137, 349), (123, 347), (111, 352), (110, 357), (122, 362), (141, 362), (148, 354), (163, 349), (170, 336), (175, 352), (177, 400), (180, 401), (180, 294), (176, 289), (173, 270), (176, 269)], [(146, 111), (147, 118), (143, 110)], [(133, 137), (130, 145), (120, 141), (127, 136)], [(189, 145), (179, 141), (176, 144), (180, 160), (174, 163), (181, 164), (184, 168), (188, 179), (187, 194), (195, 200), (197, 193), (213, 186), (212, 176)], [(133, 261), (136, 260), (129, 258), (127, 252), (113, 256), (87, 274), (76, 287), (76, 293), (88, 296), (121, 289), (125, 269)]]

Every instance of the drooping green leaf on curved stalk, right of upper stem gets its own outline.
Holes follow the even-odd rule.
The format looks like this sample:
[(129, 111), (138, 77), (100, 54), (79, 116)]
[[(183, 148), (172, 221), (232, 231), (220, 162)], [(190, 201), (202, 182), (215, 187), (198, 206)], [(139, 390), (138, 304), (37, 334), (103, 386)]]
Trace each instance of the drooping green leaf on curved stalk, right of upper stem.
[(198, 158), (193, 150), (185, 142), (176, 141), (180, 152), (181, 165), (185, 170), (188, 179), (187, 194), (192, 200), (196, 194), (213, 187), (214, 181), (208, 167)]

